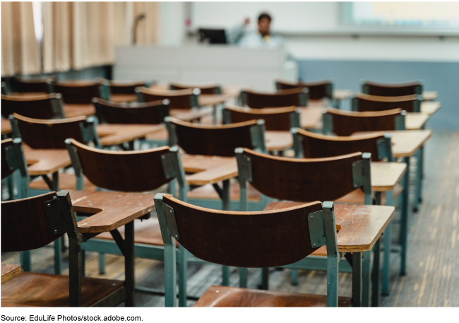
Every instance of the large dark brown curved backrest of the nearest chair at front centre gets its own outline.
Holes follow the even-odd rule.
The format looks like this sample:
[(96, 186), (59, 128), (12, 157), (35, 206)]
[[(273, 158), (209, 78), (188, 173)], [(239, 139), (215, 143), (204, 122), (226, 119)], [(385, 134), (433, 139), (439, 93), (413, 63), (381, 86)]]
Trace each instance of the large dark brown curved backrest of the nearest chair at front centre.
[(316, 201), (276, 211), (235, 212), (204, 209), (163, 195), (174, 209), (180, 245), (199, 259), (237, 267), (292, 264), (314, 252), (309, 213)]

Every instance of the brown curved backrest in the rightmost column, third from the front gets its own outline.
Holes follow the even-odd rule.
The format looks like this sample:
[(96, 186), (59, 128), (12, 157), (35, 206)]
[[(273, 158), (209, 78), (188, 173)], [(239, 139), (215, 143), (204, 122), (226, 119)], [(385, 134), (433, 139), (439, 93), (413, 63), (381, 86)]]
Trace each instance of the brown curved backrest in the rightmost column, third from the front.
[(326, 136), (297, 129), (303, 143), (304, 158), (325, 158), (364, 151), (371, 153), (371, 160), (378, 161), (378, 141), (384, 140), (384, 133), (362, 136)]

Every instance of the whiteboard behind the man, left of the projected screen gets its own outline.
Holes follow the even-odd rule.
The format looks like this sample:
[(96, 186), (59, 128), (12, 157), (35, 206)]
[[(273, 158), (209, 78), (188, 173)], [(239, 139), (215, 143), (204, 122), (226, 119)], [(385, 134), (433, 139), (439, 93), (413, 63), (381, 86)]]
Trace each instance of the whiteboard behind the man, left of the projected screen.
[(191, 28), (231, 28), (251, 20), (256, 29), (258, 15), (268, 12), (273, 32), (304, 32), (336, 28), (338, 2), (192, 2)]

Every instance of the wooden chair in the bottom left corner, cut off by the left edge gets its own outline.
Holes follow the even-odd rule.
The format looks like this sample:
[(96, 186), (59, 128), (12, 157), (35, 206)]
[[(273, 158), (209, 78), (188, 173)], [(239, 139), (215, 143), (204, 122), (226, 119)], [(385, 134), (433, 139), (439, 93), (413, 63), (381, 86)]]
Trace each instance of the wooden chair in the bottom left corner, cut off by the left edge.
[[(117, 228), (111, 228), (117, 233)], [(1, 285), (2, 306), (68, 307), (133, 306), (133, 222), (121, 240), (126, 257), (126, 281), (81, 277), (81, 245), (94, 235), (80, 233), (66, 191), (1, 202), (1, 252), (37, 249), (68, 235), (68, 276), (22, 272)], [(119, 233), (118, 233), (119, 234)], [(131, 274), (129, 274), (131, 273)]]

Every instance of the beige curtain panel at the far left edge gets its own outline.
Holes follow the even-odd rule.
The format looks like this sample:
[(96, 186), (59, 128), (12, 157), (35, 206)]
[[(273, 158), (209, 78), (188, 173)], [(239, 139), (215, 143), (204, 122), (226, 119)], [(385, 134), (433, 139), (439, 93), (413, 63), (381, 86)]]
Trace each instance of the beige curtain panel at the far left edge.
[(40, 49), (35, 38), (32, 2), (1, 2), (1, 76), (38, 74)]

